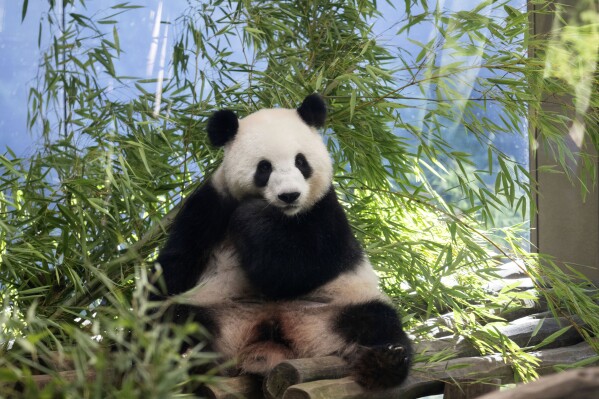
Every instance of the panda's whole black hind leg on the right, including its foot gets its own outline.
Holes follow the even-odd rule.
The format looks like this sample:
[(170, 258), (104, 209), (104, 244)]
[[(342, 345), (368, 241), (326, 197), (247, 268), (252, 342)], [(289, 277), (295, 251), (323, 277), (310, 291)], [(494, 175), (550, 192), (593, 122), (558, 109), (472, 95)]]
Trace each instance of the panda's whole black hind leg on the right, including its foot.
[(355, 380), (366, 389), (397, 386), (408, 376), (412, 346), (390, 305), (378, 300), (349, 305), (337, 316), (334, 329), (362, 346), (349, 360)]

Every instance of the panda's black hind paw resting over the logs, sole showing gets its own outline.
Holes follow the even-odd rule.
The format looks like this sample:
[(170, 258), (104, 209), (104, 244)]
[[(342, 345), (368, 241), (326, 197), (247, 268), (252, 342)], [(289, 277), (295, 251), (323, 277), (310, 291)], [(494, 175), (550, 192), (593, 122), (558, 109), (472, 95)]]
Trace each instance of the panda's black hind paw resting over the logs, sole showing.
[(408, 376), (410, 355), (402, 345), (366, 347), (351, 364), (356, 382), (366, 390), (400, 385)]

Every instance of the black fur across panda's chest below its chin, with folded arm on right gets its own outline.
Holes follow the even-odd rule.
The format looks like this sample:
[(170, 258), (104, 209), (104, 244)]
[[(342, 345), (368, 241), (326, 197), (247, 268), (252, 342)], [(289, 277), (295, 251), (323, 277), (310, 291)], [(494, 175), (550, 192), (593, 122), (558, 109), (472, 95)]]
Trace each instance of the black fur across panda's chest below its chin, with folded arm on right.
[(262, 199), (247, 200), (234, 212), (230, 226), (241, 267), (272, 299), (307, 294), (352, 270), (363, 256), (332, 187), (309, 211), (296, 216)]

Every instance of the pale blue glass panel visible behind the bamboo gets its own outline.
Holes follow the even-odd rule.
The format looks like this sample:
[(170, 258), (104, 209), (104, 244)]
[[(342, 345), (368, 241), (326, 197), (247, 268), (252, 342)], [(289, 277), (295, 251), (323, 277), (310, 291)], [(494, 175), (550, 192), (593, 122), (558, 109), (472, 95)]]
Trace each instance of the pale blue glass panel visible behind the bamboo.
[[(153, 107), (156, 114), (162, 104), (161, 90), (164, 81), (172, 78), (173, 46), (175, 41), (181, 40), (186, 35), (185, 32), (178, 31), (182, 24), (175, 22), (183, 15), (193, 19), (193, 8), (189, 8), (189, 3), (184, 1), (152, 0), (145, 2), (143, 7), (121, 13), (123, 10), (109, 8), (110, 5), (116, 4), (119, 2), (90, 2), (84, 8), (76, 2), (75, 5), (67, 7), (67, 13), (69, 17), (93, 15), (94, 19), (100, 22), (96, 25), (98, 32), (111, 40), (114, 39), (113, 30), (116, 27), (113, 22), (118, 21), (116, 32), (118, 32), (119, 50), (122, 54), (114, 60), (115, 75), (146, 79), (137, 81), (137, 84), (138, 87), (145, 87), (148, 92), (155, 93)], [(405, 87), (398, 91), (395, 100), (403, 107), (398, 112), (398, 120), (394, 125), (395, 133), (409, 140), (413, 144), (414, 152), (419, 151), (419, 146), (423, 142), (430, 143), (441, 137), (451, 142), (459, 151), (473, 154), (471, 165), (468, 162), (458, 165), (455, 163), (454, 155), (446, 156), (442, 153), (437, 154), (435, 159), (428, 159), (426, 156), (422, 158), (423, 162), (430, 164), (430, 170), (426, 174), (434, 189), (452, 204), (463, 203), (463, 208), (475, 206), (480, 203), (480, 200), (474, 198), (472, 192), (464, 192), (460, 183), (479, 179), (493, 192), (493, 188), (501, 184), (498, 173), (512, 170), (514, 166), (523, 169), (527, 169), (528, 166), (526, 120), (512, 121), (510, 130), (510, 123), (506, 122), (504, 110), (493, 103), (492, 96), (489, 96), (488, 92), (482, 92), (492, 89), (488, 86), (489, 77), (517, 78), (505, 72), (496, 76), (495, 71), (485, 67), (488, 60), (482, 58), (482, 54), (490, 45), (487, 42), (490, 36), (487, 26), (493, 23), (501, 24), (507, 17), (507, 9), (505, 7), (483, 8), (480, 17), (487, 18), (487, 22), (477, 30), (476, 35), (472, 35), (472, 31), (464, 31), (464, 35), (457, 43), (447, 41), (444, 36), (448, 30), (455, 32), (460, 29), (451, 18), (459, 15), (460, 12), (472, 11), (479, 7), (479, 4), (480, 2), (472, 0), (431, 1), (426, 13), (422, 6), (414, 5), (411, 13), (426, 14), (427, 18), (403, 31), (401, 31), (402, 26), (397, 22), (405, 21), (404, 15), (401, 15), (403, 12), (401, 7), (395, 8), (387, 2), (380, 2), (378, 5), (380, 15), (372, 17), (374, 37), (377, 41), (389, 49), (391, 54), (397, 54), (397, 60), (401, 55), (404, 61), (409, 61), (410, 65), (420, 65), (418, 70), (414, 70), (406, 68), (404, 64), (394, 64), (393, 60), (389, 61), (390, 66), (395, 69), (395, 82), (405, 83)], [(526, 9), (524, 0), (513, 0), (509, 4), (515, 9), (522, 11)], [(436, 11), (435, 7), (437, 7)], [(61, 7), (56, 6), (55, 11), (49, 14), (47, 3), (29, 2), (27, 15), (21, 21), (22, 4), (0, 0), (0, 49), (3, 54), (0, 57), (0, 109), (2, 109), (0, 147), (8, 146), (17, 154), (25, 153), (32, 144), (32, 138), (39, 137), (35, 130), (40, 129), (39, 126), (35, 126), (33, 135), (27, 132), (29, 88), (35, 85), (38, 65), (42, 61), (40, 49), (46, 49), (49, 44), (38, 43), (38, 41), (48, 40), (50, 35), (43, 32), (43, 29), (48, 29), (47, 19), (60, 20), (62, 18), (60, 10)], [(196, 22), (202, 23), (202, 21)], [(397, 34), (398, 31), (401, 33)], [(514, 42), (514, 46), (521, 44), (518, 41), (523, 39), (520, 36)], [(240, 63), (243, 63), (250, 51), (246, 53), (245, 47), (248, 44), (241, 43), (238, 33), (230, 36), (228, 40), (231, 41), (233, 59), (237, 58)], [(426, 57), (420, 58), (426, 46), (435, 46), (435, 51), (428, 52)], [(201, 69), (201, 73), (211, 73), (210, 69), (215, 68), (214, 65), (203, 68), (202, 65), (193, 64), (195, 61), (197, 60), (190, 60), (190, 68)], [(216, 83), (214, 87), (220, 84), (222, 89), (227, 84), (234, 84), (237, 77), (241, 82), (246, 81), (245, 72), (235, 71), (232, 64), (228, 65), (231, 68), (230, 74), (220, 75), (219, 78), (223, 80)], [(446, 79), (431, 79), (431, 74), (447, 72), (451, 69), (451, 65), (459, 65), (460, 72), (448, 73)], [(264, 67), (264, 65), (256, 65), (258, 70)], [(104, 80), (100, 83), (108, 87), (110, 98), (117, 101), (131, 99), (139, 94), (138, 87), (133, 86), (132, 80), (119, 80), (107, 74), (101, 75), (99, 79)], [(227, 79), (231, 81), (227, 82)], [(486, 86), (481, 85), (481, 79), (487, 83)], [(428, 80), (434, 83), (427, 83)], [(390, 99), (393, 99), (393, 96), (390, 96)], [(60, 103), (56, 107), (64, 108)], [(432, 114), (431, 110), (434, 111)], [(483, 141), (480, 140), (480, 134), (471, 134), (472, 129), (479, 128), (478, 121), (483, 119), (495, 125), (496, 131), (501, 134), (483, 132), (483, 135), (486, 135)], [(60, 129), (57, 128), (59, 122), (50, 120), (50, 123), (55, 127), (51, 129), (50, 135), (60, 134)], [(487, 150), (491, 146), (498, 148), (506, 156), (489, 161), (490, 154)], [(491, 173), (481, 172), (489, 166), (492, 169)], [(522, 184), (526, 184), (526, 177), (523, 175), (519, 177)], [(524, 197), (521, 185), (515, 187), (513, 195), (516, 199)], [(492, 219), (497, 226), (522, 221), (522, 216), (519, 214), (509, 215), (500, 211), (483, 216)]]

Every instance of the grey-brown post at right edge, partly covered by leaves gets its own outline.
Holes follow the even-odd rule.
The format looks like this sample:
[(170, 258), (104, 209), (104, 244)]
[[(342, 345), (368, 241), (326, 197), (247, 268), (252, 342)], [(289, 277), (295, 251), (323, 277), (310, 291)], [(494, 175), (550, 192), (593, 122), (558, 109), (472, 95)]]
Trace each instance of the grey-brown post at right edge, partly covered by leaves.
[[(553, 34), (559, 38), (560, 29), (568, 32), (566, 26), (576, 26), (577, 21), (585, 12), (597, 12), (596, 1), (593, 0), (548, 0), (543, 2), (529, 1), (529, 10), (540, 12), (532, 14), (531, 27), (533, 34)], [(554, 12), (547, 12), (554, 10)], [(556, 39), (557, 40), (557, 39)], [(531, 40), (531, 43), (534, 43)], [(546, 43), (546, 48), (531, 48), (530, 57), (544, 62), (544, 55), (550, 50), (552, 41)], [(576, 61), (576, 60), (573, 60)], [(596, 61), (596, 60), (595, 60)], [(578, 65), (578, 64), (577, 64)], [(549, 71), (551, 72), (551, 71)], [(593, 71), (589, 71), (591, 76)], [(558, 75), (559, 77), (559, 75)], [(547, 76), (547, 79), (556, 79)], [(579, 84), (584, 84), (579, 82)], [(596, 90), (596, 88), (589, 88)], [(574, 89), (572, 89), (574, 93)], [(552, 140), (544, 138), (540, 129), (533, 132), (535, 144), (531, 154), (531, 173), (537, 183), (533, 190), (537, 212), (533, 215), (531, 242), (539, 251), (551, 255), (557, 264), (567, 273), (572, 267), (578, 273), (586, 275), (590, 280), (599, 283), (599, 189), (588, 181), (579, 181), (581, 159), (580, 152), (597, 156), (591, 134), (596, 126), (585, 126), (580, 115), (576, 113), (596, 112), (596, 110), (574, 111), (573, 96), (551, 96), (542, 105), (545, 111), (556, 114), (567, 113), (572, 119), (570, 126), (564, 126), (564, 141), (572, 150), (573, 160), (570, 161), (572, 173), (578, 174), (572, 180), (557, 167), (557, 151)], [(565, 109), (571, 108), (569, 111)], [(588, 132), (585, 133), (585, 131)], [(549, 169), (551, 168), (551, 169)], [(561, 173), (556, 173), (561, 172)], [(581, 196), (582, 186), (589, 189), (586, 200)]]

